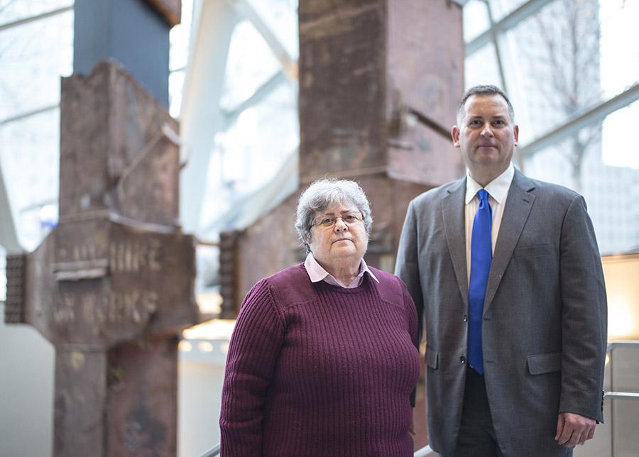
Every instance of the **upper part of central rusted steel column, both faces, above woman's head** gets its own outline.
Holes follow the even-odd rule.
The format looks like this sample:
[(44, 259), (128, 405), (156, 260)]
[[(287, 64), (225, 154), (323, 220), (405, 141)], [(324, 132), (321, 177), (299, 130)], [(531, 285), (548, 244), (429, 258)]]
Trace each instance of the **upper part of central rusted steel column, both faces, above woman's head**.
[[(461, 9), (447, 0), (300, 1), (300, 178), (459, 175), (448, 136), (463, 89)], [(420, 116), (421, 115), (421, 116)], [(442, 130), (439, 129), (439, 130)]]

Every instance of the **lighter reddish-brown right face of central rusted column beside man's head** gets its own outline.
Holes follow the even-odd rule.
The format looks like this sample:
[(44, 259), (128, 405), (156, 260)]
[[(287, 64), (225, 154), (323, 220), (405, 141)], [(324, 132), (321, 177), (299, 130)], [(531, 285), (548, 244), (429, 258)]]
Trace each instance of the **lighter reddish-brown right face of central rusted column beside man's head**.
[[(388, 172), (429, 187), (463, 175), (450, 131), (464, 89), (461, 8), (447, 1), (388, 4)], [(423, 118), (423, 119), (422, 119)]]

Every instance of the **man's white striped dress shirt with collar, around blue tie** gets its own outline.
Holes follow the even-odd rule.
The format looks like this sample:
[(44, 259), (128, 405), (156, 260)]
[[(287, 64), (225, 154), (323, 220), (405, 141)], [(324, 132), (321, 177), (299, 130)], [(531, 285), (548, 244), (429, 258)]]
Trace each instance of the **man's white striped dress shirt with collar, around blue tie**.
[(466, 209), (464, 215), (466, 218), (466, 271), (468, 272), (469, 283), (473, 221), (477, 208), (479, 207), (479, 195), (477, 195), (477, 192), (481, 189), (486, 189), (486, 192), (488, 192), (488, 204), (491, 205), (493, 214), (491, 248), (494, 254), (495, 243), (497, 241), (497, 235), (499, 234), (499, 226), (501, 226), (501, 217), (503, 216), (503, 209), (506, 207), (506, 197), (508, 197), (508, 189), (510, 189), (510, 183), (513, 182), (513, 177), (515, 177), (515, 167), (513, 167), (513, 163), (508, 165), (505, 172), (491, 182), (488, 182), (486, 187), (481, 187), (471, 178), (469, 172), (466, 172)]

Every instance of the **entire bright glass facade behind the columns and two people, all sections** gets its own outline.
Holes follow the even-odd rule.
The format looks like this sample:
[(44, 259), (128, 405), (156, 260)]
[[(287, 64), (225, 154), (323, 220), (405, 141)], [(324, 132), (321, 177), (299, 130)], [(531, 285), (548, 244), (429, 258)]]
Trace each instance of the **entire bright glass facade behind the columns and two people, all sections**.
[[(510, 94), (521, 126), (518, 166), (586, 195), (591, 212), (601, 214), (594, 217), (598, 233), (609, 232), (601, 236), (603, 253), (638, 249), (637, 204), (621, 208), (620, 197), (598, 207), (594, 196), (638, 193), (638, 147), (622, 138), (639, 114), (639, 0), (464, 3), (466, 87), (498, 84)], [(212, 136), (196, 233), (209, 239), (228, 211), (293, 160), (299, 143), (297, 0), (230, 4), (239, 21), (219, 83), (224, 122)], [(183, 0), (182, 24), (170, 34), (170, 112), (178, 118), (197, 58), (190, 55), (192, 18), (206, 26), (198, 22), (201, 5)], [(57, 208), (59, 87), (72, 71), (71, 6), (0, 0), (0, 166), (27, 250), (40, 243)], [(619, 224), (622, 211), (634, 225)]]

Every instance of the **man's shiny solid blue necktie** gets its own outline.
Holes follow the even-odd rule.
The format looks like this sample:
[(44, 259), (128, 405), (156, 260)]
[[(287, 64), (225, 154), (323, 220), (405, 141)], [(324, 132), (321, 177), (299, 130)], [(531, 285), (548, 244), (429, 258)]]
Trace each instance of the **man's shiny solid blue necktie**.
[(488, 204), (488, 192), (481, 189), (479, 207), (473, 221), (471, 238), (471, 277), (468, 287), (468, 363), (477, 373), (484, 374), (484, 356), (481, 353), (481, 314), (484, 312), (488, 272), (491, 271), (493, 251), (491, 248), (491, 227), (493, 211)]

